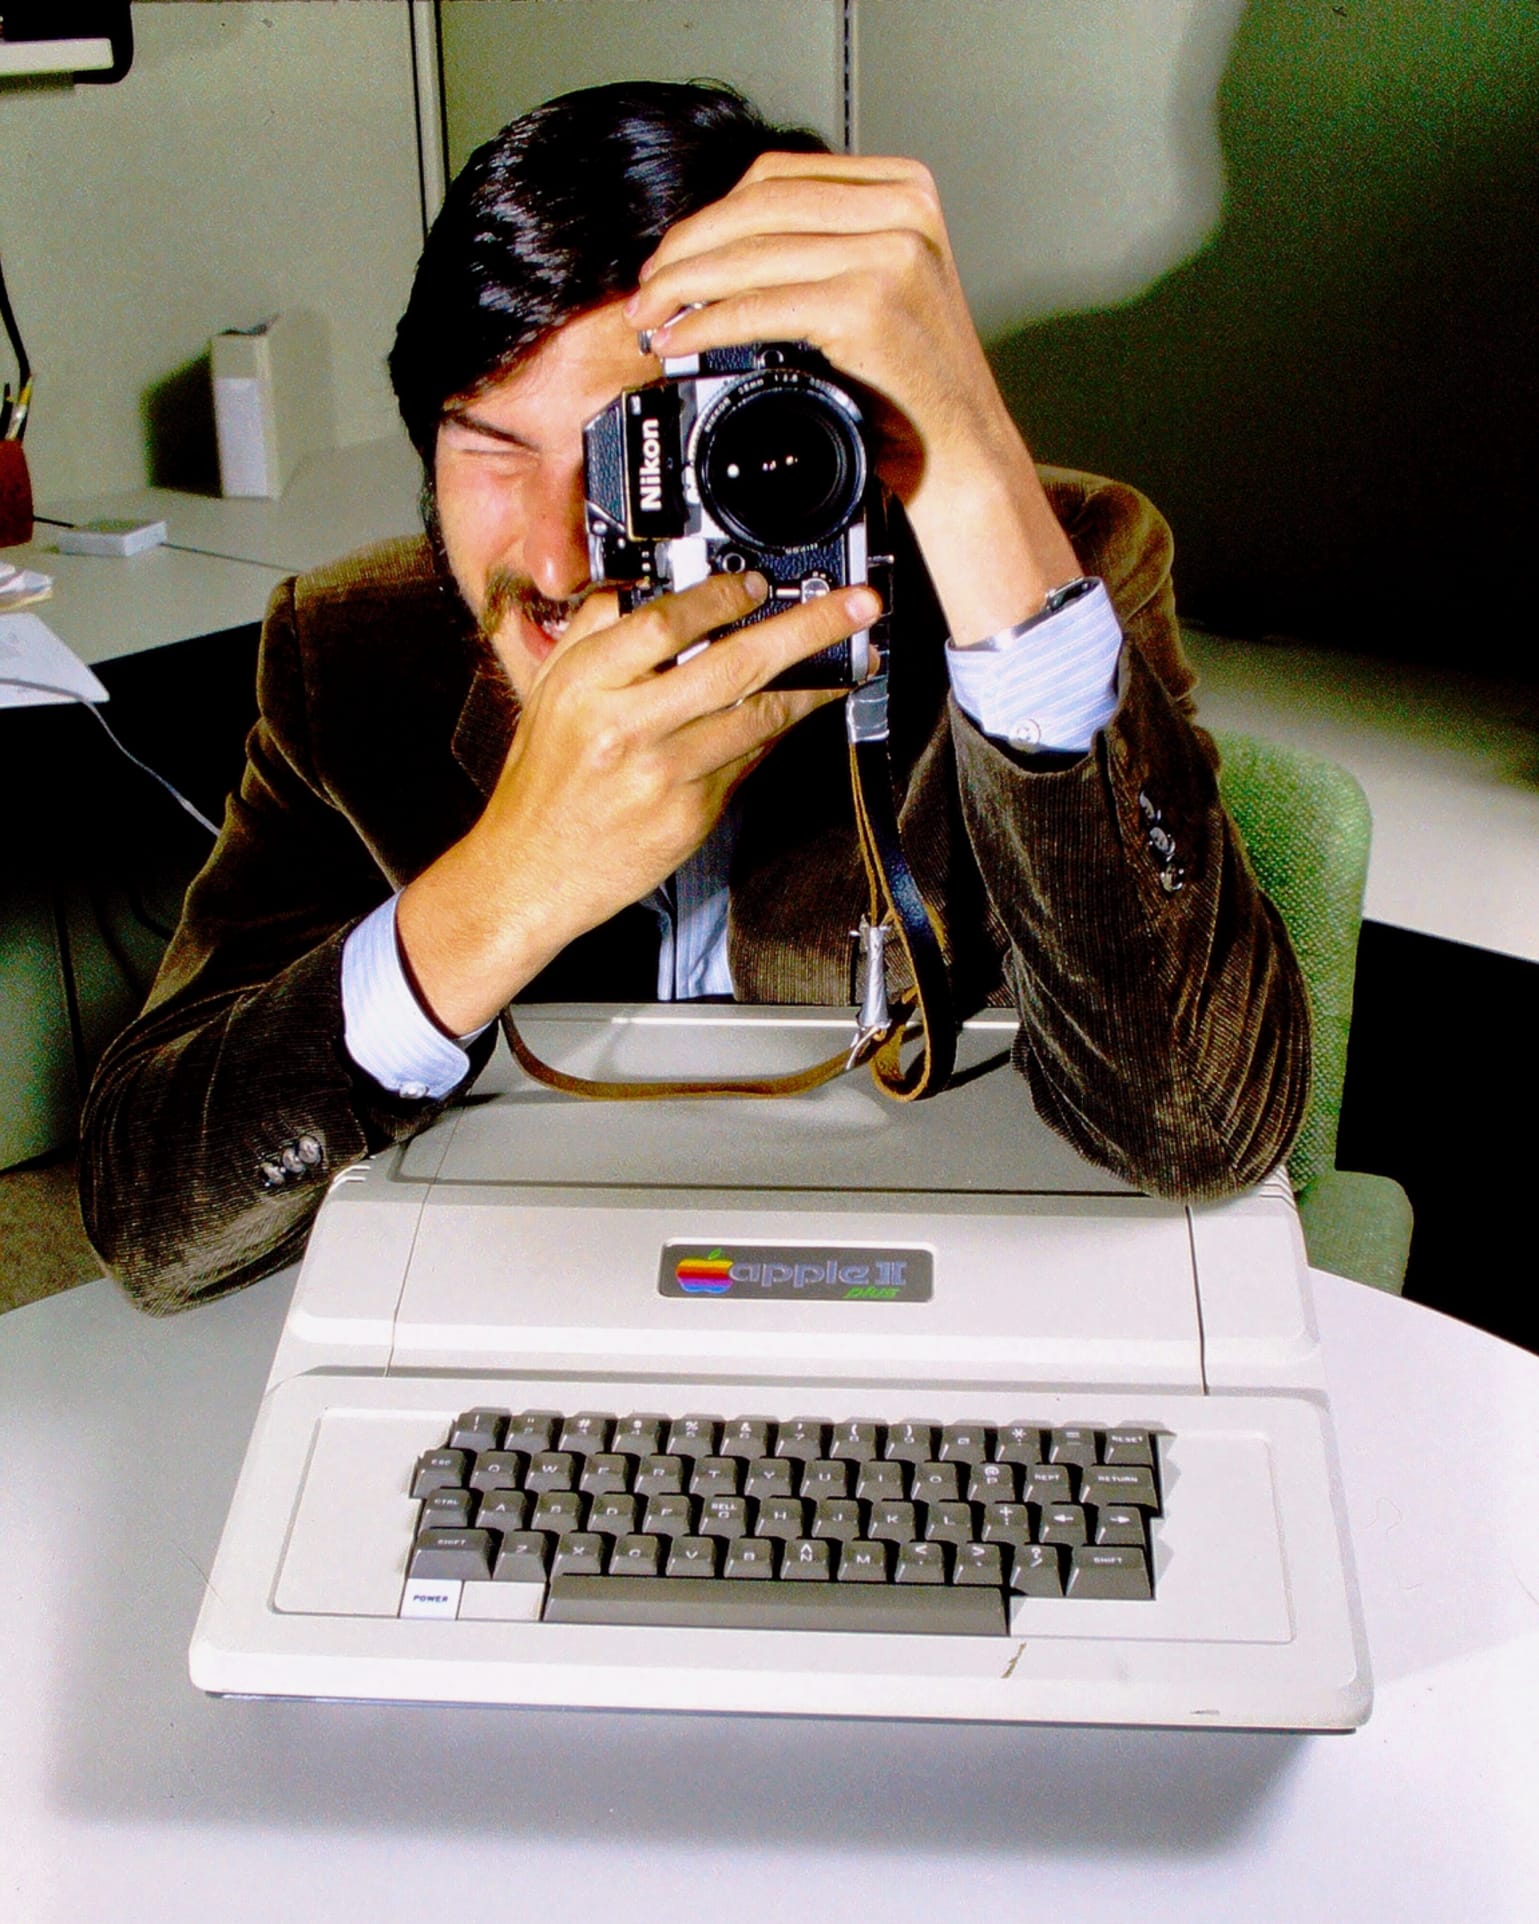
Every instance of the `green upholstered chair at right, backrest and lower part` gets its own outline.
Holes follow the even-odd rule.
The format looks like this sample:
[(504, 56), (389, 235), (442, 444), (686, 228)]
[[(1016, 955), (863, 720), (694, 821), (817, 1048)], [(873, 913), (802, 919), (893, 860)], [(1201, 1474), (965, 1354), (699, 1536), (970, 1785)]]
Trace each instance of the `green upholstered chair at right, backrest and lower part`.
[(1400, 1289), (1410, 1201), (1389, 1176), (1335, 1166), (1362, 891), (1374, 820), (1354, 775), (1304, 748), (1214, 731), (1220, 789), (1262, 889), (1277, 904), (1314, 1014), (1314, 1083), (1289, 1156), (1310, 1262), (1375, 1289)]

